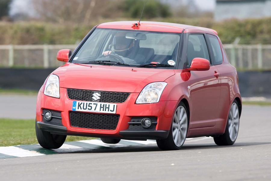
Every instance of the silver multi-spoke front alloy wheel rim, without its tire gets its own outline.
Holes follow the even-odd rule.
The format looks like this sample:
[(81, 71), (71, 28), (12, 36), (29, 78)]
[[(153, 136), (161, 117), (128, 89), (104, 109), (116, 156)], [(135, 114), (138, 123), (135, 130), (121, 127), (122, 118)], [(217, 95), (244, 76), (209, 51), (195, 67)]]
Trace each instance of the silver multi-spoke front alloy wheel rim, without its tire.
[(183, 106), (179, 106), (172, 121), (173, 141), (177, 147), (182, 146), (185, 141), (188, 128), (187, 113)]

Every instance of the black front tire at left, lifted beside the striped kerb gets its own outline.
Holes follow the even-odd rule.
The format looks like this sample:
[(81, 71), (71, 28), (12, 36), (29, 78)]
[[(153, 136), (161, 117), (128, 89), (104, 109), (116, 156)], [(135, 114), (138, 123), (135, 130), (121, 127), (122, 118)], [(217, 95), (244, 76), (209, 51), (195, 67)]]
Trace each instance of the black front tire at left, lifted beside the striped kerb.
[(42, 131), (36, 124), (36, 137), (39, 144), (46, 149), (58, 149), (66, 140), (67, 135), (55, 135), (47, 131)]

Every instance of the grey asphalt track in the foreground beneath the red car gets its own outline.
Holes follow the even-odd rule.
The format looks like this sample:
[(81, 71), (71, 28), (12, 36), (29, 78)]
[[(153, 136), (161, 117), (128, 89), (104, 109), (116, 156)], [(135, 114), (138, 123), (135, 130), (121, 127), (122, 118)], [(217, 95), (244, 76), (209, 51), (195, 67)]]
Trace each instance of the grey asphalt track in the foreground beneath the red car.
[(0, 180), (271, 180), (271, 107), (243, 106), (237, 141), (186, 140), (0, 160)]

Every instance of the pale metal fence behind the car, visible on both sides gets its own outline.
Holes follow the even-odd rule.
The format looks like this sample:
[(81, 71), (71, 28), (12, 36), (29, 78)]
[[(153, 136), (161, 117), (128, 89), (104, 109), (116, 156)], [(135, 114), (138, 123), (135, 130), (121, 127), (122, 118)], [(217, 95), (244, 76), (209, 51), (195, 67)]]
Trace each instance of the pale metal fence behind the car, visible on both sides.
[[(77, 45), (0, 45), (0, 67), (53, 68), (63, 65), (56, 60), (60, 49)], [(271, 69), (271, 45), (224, 45), (236, 68)]]

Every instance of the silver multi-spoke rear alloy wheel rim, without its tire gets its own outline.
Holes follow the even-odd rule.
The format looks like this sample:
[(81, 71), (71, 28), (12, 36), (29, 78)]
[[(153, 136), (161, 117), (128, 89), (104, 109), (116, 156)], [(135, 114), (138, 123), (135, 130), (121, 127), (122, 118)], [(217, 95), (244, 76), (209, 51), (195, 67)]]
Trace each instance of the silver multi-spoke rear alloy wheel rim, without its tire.
[(239, 130), (239, 110), (236, 103), (233, 103), (229, 112), (229, 136), (235, 141)]

